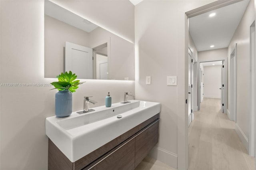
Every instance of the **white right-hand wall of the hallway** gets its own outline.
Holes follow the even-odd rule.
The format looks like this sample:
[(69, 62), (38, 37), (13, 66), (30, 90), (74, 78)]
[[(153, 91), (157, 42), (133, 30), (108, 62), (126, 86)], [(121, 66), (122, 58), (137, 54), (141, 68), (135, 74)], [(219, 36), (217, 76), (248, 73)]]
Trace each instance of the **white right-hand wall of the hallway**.
[[(236, 131), (249, 150), (250, 138), (250, 26), (254, 21), (254, 1), (250, 1), (228, 46), (228, 84), (230, 84), (230, 54), (237, 43)], [(228, 91), (230, 111), (230, 88)]]

